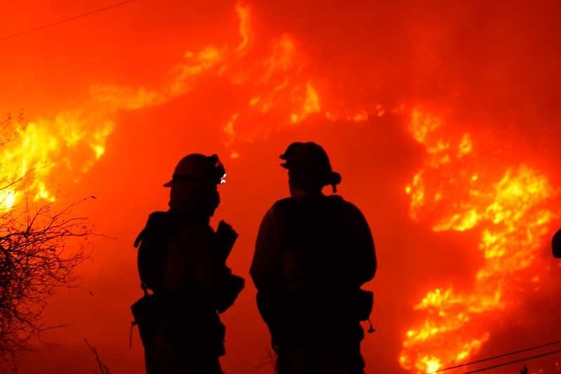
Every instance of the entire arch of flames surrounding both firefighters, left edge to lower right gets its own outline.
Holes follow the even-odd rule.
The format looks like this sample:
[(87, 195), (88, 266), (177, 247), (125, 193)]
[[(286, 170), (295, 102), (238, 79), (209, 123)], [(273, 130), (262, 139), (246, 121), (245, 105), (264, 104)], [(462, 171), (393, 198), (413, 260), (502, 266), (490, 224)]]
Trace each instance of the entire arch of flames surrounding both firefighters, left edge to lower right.
[[(8, 187), (0, 189), (0, 208), (13, 208), (23, 201), (23, 192), (36, 201), (53, 201), (48, 176), (57, 168), (86, 173), (103, 156), (117, 112), (161, 105), (209, 76), (238, 87), (245, 98), (221, 126), (232, 158), (241, 156), (236, 141), (266, 138), (310, 116), (355, 122), (384, 116), (380, 104), (353, 110), (332, 105), (291, 34), (263, 43), (252, 28), (250, 7), (238, 3), (236, 14), (238, 44), (187, 51), (165, 84), (94, 85), (82, 107), (53, 119), (18, 123), (17, 138), (1, 148), (0, 180)], [(403, 107), (396, 110), (404, 112)], [(546, 176), (525, 165), (504, 168), (496, 177), (482, 167), (470, 133), (449, 133), (442, 116), (421, 109), (410, 114), (410, 133), (426, 149), (423, 168), (405, 188), (411, 218), (431, 222), (434, 232), (476, 232), (484, 260), (471, 290), (436, 288), (414, 305), (423, 318), (407, 330), (399, 362), (407, 369), (431, 372), (479, 352), (491, 336), (489, 323), (515, 308), (513, 285), (520, 278), (539, 282), (536, 255), (555, 217), (546, 208), (555, 191)], [(11, 185), (18, 180), (24, 189)]]

